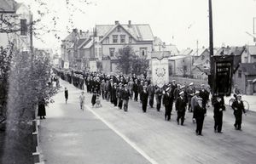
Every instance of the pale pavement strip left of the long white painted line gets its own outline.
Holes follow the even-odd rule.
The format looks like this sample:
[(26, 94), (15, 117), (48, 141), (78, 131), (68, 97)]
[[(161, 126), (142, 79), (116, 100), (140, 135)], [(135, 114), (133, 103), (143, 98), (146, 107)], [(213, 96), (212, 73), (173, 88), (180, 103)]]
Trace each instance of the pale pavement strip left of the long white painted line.
[[(61, 91), (54, 97), (55, 103), (47, 108), (46, 119), (42, 120), (39, 128), (44, 163), (150, 163), (90, 110), (79, 110), (79, 89), (63, 81), (61, 86)], [(67, 105), (64, 86), (69, 91)], [(90, 105), (88, 97), (86, 105)]]

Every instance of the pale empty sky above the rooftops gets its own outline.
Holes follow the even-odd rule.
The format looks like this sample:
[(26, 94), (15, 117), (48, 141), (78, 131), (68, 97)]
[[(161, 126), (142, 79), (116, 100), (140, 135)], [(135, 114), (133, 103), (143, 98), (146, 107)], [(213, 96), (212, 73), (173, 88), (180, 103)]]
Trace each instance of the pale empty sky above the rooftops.
[[(44, 1), (55, 13), (50, 13), (43, 22), (47, 25), (48, 19), (58, 16), (56, 27), (61, 39), (67, 36), (66, 26), (71, 25), (68, 18), (72, 18), (73, 27), (84, 31), (92, 31), (95, 25), (113, 25), (115, 20), (120, 24), (131, 20), (132, 24), (149, 24), (154, 37), (175, 44), (179, 50), (196, 48), (197, 42), (199, 48), (209, 45), (207, 0), (91, 0), (90, 4), (81, 3), (83, 0), (69, 1), (83, 13), (78, 8), (67, 9), (66, 0)], [(32, 8), (34, 12), (38, 9)], [(214, 47), (255, 44), (246, 32), (253, 34), (256, 0), (212, 0), (212, 17)], [(52, 34), (42, 38), (46, 43), (35, 41), (36, 47), (60, 47)]]

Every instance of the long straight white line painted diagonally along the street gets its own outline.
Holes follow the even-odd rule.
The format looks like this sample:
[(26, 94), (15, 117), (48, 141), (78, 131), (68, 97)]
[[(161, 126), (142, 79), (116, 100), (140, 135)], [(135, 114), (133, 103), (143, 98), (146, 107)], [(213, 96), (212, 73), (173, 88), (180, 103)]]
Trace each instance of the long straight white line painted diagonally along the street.
[(91, 110), (91, 108), (88, 105), (84, 105), (84, 106), (87, 110), (90, 110), (91, 113), (93, 113), (96, 117), (98, 117), (103, 123), (105, 123), (111, 130), (113, 130), (114, 133), (117, 133), (122, 139), (124, 139), (127, 144), (130, 144), (133, 149), (137, 150), (137, 152), (139, 152), (150, 163), (158, 164), (156, 161), (154, 161), (154, 159), (149, 157), (143, 150), (137, 147), (137, 144), (133, 143), (130, 139), (128, 139), (122, 133), (119, 133), (119, 131), (116, 128), (114, 128), (110, 123), (108, 123), (104, 118), (102, 118), (102, 116), (99, 116), (94, 110)]

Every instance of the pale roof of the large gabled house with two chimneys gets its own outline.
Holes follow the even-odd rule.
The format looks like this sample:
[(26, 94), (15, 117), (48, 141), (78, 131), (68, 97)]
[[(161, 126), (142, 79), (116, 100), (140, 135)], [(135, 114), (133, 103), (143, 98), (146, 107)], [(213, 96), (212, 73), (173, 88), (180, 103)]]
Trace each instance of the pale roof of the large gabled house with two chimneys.
[(107, 37), (117, 26), (121, 26), (137, 41), (154, 41), (150, 25), (96, 25), (96, 36)]

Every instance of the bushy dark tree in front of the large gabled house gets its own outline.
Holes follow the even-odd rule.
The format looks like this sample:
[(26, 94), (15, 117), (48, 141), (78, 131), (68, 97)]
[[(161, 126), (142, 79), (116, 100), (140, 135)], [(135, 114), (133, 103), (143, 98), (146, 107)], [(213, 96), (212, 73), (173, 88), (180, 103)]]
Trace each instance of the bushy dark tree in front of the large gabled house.
[(135, 54), (131, 46), (119, 48), (116, 64), (117, 69), (125, 74), (135, 73), (141, 75), (148, 69), (148, 60)]

